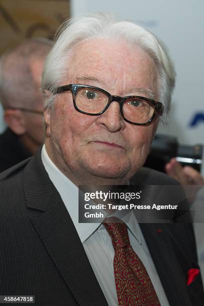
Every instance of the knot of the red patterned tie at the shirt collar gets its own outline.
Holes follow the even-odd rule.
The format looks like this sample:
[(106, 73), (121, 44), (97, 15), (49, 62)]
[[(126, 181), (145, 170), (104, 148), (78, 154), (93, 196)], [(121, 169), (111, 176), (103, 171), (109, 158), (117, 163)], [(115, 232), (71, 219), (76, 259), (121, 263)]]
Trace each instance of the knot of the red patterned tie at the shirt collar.
[(103, 225), (112, 239), (114, 249), (129, 246), (127, 226), (122, 220), (116, 217), (105, 218)]

